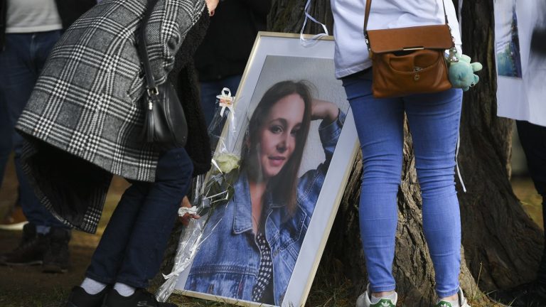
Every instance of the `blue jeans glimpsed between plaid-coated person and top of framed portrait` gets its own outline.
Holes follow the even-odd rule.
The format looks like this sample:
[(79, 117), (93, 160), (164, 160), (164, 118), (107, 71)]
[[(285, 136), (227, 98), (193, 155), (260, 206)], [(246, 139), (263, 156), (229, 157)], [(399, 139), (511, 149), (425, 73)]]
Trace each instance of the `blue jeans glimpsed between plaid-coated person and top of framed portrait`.
[(231, 91), (231, 95), (235, 96), (235, 92), (237, 92), (237, 87), (239, 87), (241, 78), (242, 75), (232, 75), (217, 81), (199, 82), (201, 90), (201, 107), (203, 107), (203, 114), (205, 114), (207, 126), (210, 126), (210, 122), (213, 121), (216, 109), (218, 109), (216, 96), (220, 95), (224, 87), (228, 87), (228, 89)]

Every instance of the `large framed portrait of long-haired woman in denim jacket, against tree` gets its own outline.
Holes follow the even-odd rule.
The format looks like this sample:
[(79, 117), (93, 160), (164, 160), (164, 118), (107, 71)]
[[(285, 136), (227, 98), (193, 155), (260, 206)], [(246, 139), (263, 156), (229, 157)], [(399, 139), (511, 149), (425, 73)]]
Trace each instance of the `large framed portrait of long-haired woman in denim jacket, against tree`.
[(240, 156), (234, 193), (198, 220), (175, 293), (304, 306), (358, 151), (333, 54), (332, 37), (258, 34), (217, 149)]

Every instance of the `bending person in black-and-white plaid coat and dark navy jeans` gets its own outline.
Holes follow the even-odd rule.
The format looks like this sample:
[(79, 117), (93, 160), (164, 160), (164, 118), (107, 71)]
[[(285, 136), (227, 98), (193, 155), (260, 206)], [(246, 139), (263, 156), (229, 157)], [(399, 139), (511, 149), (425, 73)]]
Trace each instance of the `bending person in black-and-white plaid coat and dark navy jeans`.
[[(193, 54), (217, 5), (102, 1), (51, 51), (16, 124), (25, 139), (21, 163), (41, 203), (65, 224), (95, 233), (112, 176), (131, 183), (63, 306), (176, 307), (146, 289), (159, 272), (191, 177), (210, 168)], [(141, 134), (149, 88), (137, 45), (151, 51), (146, 77), (156, 85), (169, 82), (179, 97), (188, 124), (183, 148), (164, 148)]]

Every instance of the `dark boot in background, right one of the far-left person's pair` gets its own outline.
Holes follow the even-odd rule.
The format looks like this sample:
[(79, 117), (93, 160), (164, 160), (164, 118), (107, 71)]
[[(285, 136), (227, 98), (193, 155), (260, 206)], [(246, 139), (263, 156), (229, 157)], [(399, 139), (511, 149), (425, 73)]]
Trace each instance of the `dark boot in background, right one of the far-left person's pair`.
[(65, 273), (70, 267), (70, 230), (65, 228), (51, 227), (46, 235), (48, 249), (43, 256), (42, 271), (45, 273)]

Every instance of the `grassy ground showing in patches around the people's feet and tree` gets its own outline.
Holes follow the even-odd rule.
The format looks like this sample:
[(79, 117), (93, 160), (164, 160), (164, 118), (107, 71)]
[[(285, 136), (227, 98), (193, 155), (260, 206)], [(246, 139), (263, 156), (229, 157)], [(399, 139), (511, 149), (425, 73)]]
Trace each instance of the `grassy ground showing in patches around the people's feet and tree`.
[[(12, 165), (12, 163), (10, 163)], [(0, 307), (53, 307), (60, 306), (70, 288), (80, 284), (85, 268), (112, 210), (122, 191), (127, 187), (120, 178), (114, 178), (107, 196), (105, 212), (100, 220), (97, 234), (73, 232), (70, 252), (73, 266), (67, 274), (43, 274), (40, 266), (8, 267), (0, 266)], [(542, 226), (540, 199), (529, 178), (515, 178), (513, 188), (522, 200), (525, 210), (533, 220)], [(6, 173), (4, 185), (0, 189), (0, 216), (16, 201), (16, 179), (13, 168)], [(18, 244), (21, 232), (0, 231), (0, 252), (10, 250)], [(320, 269), (316, 276), (306, 306), (343, 307), (354, 306), (355, 297), (351, 296), (352, 285), (347, 280), (336, 280), (336, 276), (326, 276)], [(196, 298), (173, 295), (170, 301), (179, 306), (232, 306), (227, 303), (203, 301)], [(473, 305), (476, 307), (476, 305)]]

